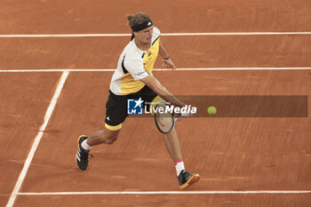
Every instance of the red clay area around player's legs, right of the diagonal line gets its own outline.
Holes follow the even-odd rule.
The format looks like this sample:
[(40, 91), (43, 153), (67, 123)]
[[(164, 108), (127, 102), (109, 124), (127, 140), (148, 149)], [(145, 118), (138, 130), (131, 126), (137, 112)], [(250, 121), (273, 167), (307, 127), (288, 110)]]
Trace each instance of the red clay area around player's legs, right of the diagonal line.
[[(68, 77), (22, 192), (66, 192), (81, 188), (178, 190), (163, 135), (156, 131), (151, 118), (126, 120), (116, 143), (93, 147), (95, 158), (90, 169), (76, 170), (73, 158), (76, 139), (102, 127), (111, 75), (72, 73)], [(308, 95), (311, 87), (307, 71), (179, 71), (158, 72), (155, 76), (171, 92), (181, 94)], [(192, 83), (200, 84), (180, 91), (180, 84), (171, 82), (169, 76), (180, 80), (191, 76)], [(296, 81), (289, 83), (286, 81), (289, 78)], [(186, 79), (183, 84), (188, 82)], [(213, 87), (216, 84), (213, 82), (218, 82), (218, 86)], [(297, 82), (303, 87), (296, 87)], [(192, 118), (179, 122), (176, 127), (186, 167), (202, 175), (191, 189), (307, 189), (311, 184), (307, 179), (311, 170), (307, 147), (311, 144), (309, 125), (308, 118)]]

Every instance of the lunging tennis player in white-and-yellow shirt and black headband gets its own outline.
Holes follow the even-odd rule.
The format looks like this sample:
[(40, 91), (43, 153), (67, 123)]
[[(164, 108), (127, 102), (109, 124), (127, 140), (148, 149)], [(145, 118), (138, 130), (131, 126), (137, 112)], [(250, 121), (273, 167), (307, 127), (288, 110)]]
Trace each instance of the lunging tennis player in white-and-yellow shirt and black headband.
[[(88, 156), (92, 146), (110, 145), (116, 141), (122, 123), (127, 117), (127, 99), (141, 98), (146, 103), (165, 100), (176, 107), (186, 106), (152, 75), (158, 53), (163, 58), (163, 67), (176, 69), (160, 42), (160, 30), (154, 27), (146, 13), (128, 15), (127, 19), (132, 28), (132, 40), (121, 53), (111, 79), (106, 104), (105, 128), (94, 131), (89, 137), (82, 135), (78, 139), (76, 163), (82, 171), (88, 168)], [(199, 174), (190, 174), (185, 171), (176, 130), (172, 129), (171, 132), (165, 134), (164, 139), (165, 146), (175, 163), (179, 187), (184, 189), (197, 182), (200, 179)]]

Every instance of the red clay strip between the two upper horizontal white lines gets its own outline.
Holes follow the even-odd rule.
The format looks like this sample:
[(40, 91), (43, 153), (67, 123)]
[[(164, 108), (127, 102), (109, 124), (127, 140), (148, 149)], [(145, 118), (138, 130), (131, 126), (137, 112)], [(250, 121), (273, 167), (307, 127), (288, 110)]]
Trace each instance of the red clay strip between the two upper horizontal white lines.
[[(310, 67), (311, 62), (310, 36), (163, 36), (162, 40), (178, 68)], [(0, 38), (4, 45), (0, 67), (116, 68), (128, 41), (130, 36)], [(161, 64), (158, 60), (155, 68)]]

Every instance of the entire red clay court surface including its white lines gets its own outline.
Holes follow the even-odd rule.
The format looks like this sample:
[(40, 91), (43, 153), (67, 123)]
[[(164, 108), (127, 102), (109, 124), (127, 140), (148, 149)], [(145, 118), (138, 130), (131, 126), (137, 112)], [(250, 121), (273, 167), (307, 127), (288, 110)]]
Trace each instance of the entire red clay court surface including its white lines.
[(104, 127), (110, 78), (130, 40), (126, 14), (147, 12), (162, 31), (180, 69), (158, 70), (158, 59), (154, 75), (173, 94), (310, 96), (310, 1), (4, 0), (0, 8), (0, 206), (311, 206), (309, 116), (183, 119), (186, 169), (201, 175), (184, 191), (151, 117), (128, 118), (114, 145), (92, 147), (88, 171), (75, 161), (78, 136)]

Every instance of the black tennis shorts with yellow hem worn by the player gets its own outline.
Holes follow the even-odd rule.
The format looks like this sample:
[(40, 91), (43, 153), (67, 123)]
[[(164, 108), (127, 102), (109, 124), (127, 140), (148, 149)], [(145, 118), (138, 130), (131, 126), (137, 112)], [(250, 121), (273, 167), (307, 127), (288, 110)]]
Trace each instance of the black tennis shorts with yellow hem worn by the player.
[[(109, 90), (109, 97), (106, 103), (106, 118), (105, 123), (109, 126), (116, 126), (123, 123), (127, 117), (127, 100), (128, 99), (142, 99), (144, 100), (143, 107), (146, 102), (150, 103), (156, 98), (156, 92), (152, 91), (145, 85), (140, 92), (131, 93), (128, 95), (115, 95)], [(149, 107), (148, 107), (149, 108)]]

